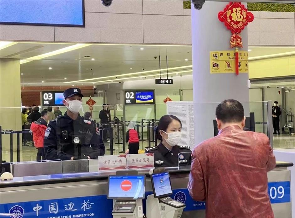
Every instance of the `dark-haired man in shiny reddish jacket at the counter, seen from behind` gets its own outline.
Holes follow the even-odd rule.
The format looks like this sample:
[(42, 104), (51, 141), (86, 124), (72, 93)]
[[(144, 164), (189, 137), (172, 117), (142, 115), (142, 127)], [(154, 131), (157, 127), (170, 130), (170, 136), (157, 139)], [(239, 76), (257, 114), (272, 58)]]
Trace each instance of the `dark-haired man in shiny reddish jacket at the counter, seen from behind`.
[(267, 171), (276, 167), (268, 137), (243, 131), (244, 108), (225, 100), (216, 108), (217, 136), (192, 152), (190, 196), (206, 200), (206, 217), (273, 218)]

